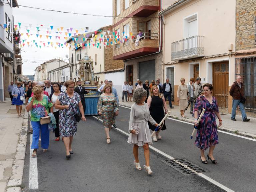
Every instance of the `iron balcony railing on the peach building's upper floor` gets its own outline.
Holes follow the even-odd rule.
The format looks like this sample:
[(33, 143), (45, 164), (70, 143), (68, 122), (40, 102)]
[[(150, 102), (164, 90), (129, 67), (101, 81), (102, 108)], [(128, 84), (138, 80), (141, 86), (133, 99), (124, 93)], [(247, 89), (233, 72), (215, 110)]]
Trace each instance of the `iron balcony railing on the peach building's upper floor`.
[(172, 60), (184, 60), (204, 56), (204, 36), (193, 36), (172, 43)]

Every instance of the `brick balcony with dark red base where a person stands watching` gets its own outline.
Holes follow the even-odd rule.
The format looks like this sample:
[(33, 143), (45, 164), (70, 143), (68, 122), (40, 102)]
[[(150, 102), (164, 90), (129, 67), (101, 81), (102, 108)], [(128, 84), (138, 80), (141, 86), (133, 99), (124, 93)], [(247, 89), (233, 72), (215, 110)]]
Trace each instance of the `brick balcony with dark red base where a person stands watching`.
[(130, 37), (129, 43), (121, 44), (119, 48), (114, 48), (113, 59), (131, 59), (159, 51), (157, 33), (142, 33), (137, 43), (136, 37), (135, 39)]

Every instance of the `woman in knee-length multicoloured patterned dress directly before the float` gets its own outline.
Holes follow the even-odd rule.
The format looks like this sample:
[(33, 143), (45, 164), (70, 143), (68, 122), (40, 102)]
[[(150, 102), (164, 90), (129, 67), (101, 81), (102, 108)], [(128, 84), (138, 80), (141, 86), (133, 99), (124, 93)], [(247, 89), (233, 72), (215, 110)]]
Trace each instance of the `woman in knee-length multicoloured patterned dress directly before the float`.
[(115, 124), (114, 117), (118, 115), (118, 105), (115, 95), (112, 94), (112, 87), (106, 84), (103, 88), (103, 94), (98, 101), (98, 114), (102, 115), (103, 125), (106, 132), (107, 144), (110, 144), (109, 131)]

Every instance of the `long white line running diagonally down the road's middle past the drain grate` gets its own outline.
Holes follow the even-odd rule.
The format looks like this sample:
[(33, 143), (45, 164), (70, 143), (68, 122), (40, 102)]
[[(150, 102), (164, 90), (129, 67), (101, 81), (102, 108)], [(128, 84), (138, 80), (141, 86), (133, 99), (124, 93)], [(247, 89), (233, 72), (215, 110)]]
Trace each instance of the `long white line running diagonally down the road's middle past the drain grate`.
[[(93, 115), (92, 117), (94, 117), (95, 119), (98, 119), (98, 117), (96, 117), (96, 116), (94, 116), (94, 115)], [(99, 119), (99, 121), (103, 122), (102, 119)], [(112, 128), (114, 128), (114, 127), (112, 126)], [(121, 132), (121, 133), (123, 133), (123, 134), (129, 136), (128, 133), (126, 133), (125, 131), (123, 131), (123, 130), (121, 130), (121, 129), (119, 129), (119, 128), (114, 128), (114, 129), (116, 129), (117, 131), (119, 131), (119, 132)], [(149, 148), (152, 149), (152, 150), (154, 150), (155, 152), (157, 152), (157, 153), (163, 155), (164, 157), (166, 157), (166, 158), (168, 158), (168, 159), (171, 159), (171, 160), (175, 159), (174, 157), (172, 157), (172, 156), (166, 154), (165, 152), (163, 152), (163, 151), (161, 151), (161, 150), (159, 150), (159, 149), (157, 149), (157, 148), (155, 148), (155, 147), (153, 147), (153, 146), (151, 146), (151, 145), (149, 145)], [(176, 162), (177, 162), (177, 161), (176, 161)], [(205, 180), (211, 182), (212, 184), (214, 184), (214, 185), (220, 187), (221, 189), (223, 189), (223, 190), (225, 190), (225, 191), (227, 191), (227, 192), (235, 192), (235, 191), (233, 191), (232, 189), (229, 189), (228, 187), (222, 185), (221, 183), (219, 183), (219, 182), (217, 182), (217, 181), (211, 179), (210, 177), (206, 176), (205, 174), (203, 174), (203, 173), (197, 173), (197, 172), (195, 172), (194, 170), (192, 170), (192, 169), (190, 169), (189, 167), (187, 167), (187, 166), (186, 166), (185, 164), (183, 164), (183, 163), (180, 163), (180, 162), (177, 162), (177, 163), (183, 165), (184, 167), (186, 167), (186, 168), (188, 168), (189, 170), (193, 171), (193, 172), (194, 172), (195, 174), (197, 174), (198, 176), (200, 176), (200, 177), (204, 178)]]

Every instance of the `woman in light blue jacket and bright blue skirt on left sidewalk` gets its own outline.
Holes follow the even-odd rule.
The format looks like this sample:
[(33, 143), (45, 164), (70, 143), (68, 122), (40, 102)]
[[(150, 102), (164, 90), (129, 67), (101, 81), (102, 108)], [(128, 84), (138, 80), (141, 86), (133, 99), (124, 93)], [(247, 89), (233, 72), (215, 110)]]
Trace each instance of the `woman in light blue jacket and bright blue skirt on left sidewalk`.
[(12, 90), (12, 96), (13, 96), (12, 104), (16, 105), (16, 111), (18, 113), (17, 117), (21, 117), (23, 101), (20, 100), (20, 97), (21, 96), (24, 97), (26, 93), (25, 93), (23, 87), (21, 87), (21, 82), (17, 81), (16, 85), (17, 85), (17, 87), (14, 87)]

